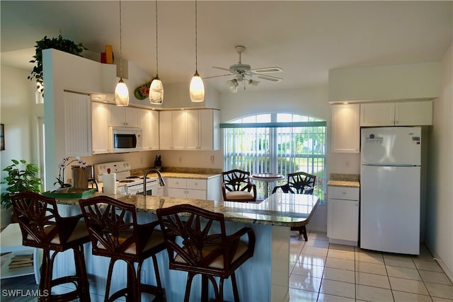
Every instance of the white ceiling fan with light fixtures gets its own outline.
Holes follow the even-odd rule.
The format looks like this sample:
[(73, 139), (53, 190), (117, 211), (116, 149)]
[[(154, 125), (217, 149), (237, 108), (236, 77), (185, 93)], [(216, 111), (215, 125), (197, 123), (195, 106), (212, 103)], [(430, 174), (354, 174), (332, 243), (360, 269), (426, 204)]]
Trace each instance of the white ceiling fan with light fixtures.
[[(281, 78), (277, 78), (276, 76), (265, 75), (272, 72), (282, 72), (283, 69), (281, 69), (280, 67), (264, 67), (251, 69), (251, 66), (249, 64), (243, 64), (241, 61), (242, 52), (246, 50), (246, 47), (238, 45), (234, 47), (234, 49), (239, 54), (239, 62), (237, 64), (233, 64), (229, 66), (229, 68), (216, 66), (212, 67), (230, 72), (229, 74), (221, 74), (219, 76), (234, 76), (233, 79), (226, 81), (226, 84), (228, 85), (229, 90), (232, 93), (237, 93), (239, 83), (243, 83), (244, 90), (246, 89), (246, 83), (248, 83), (250, 86), (256, 89), (260, 81), (254, 80), (253, 79), (254, 77), (266, 81), (272, 81), (275, 83), (278, 83), (283, 80)], [(208, 76), (205, 79), (218, 78), (219, 76)]]

